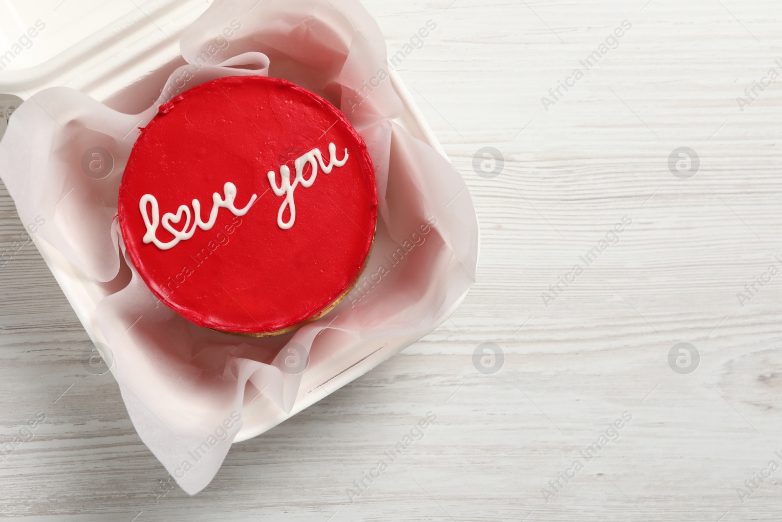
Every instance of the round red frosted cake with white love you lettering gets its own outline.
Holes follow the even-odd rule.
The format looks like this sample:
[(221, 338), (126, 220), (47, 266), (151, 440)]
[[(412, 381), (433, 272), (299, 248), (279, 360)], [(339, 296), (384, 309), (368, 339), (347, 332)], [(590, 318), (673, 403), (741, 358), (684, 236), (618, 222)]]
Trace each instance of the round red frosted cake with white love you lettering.
[(289, 81), (226, 77), (142, 129), (119, 218), (160, 301), (199, 326), (274, 335), (346, 297), (377, 203), (367, 147), (335, 106)]

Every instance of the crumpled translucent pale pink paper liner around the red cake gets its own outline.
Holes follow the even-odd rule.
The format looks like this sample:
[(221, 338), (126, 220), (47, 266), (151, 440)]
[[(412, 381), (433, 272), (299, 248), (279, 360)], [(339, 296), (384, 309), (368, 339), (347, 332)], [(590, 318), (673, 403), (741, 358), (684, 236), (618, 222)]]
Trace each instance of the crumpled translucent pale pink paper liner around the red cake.
[[(317, 337), (324, 329), (373, 339), (430, 328), (475, 282), (479, 232), (458, 172), (393, 123), (403, 106), (388, 79), (386, 45), (359, 2), (216, 0), (185, 31), (181, 53), (188, 65), (139, 114), (69, 88), (38, 92), (16, 110), (0, 142), (0, 175), (22, 221), (45, 220), (38, 237), (102, 283), (96, 318), (127, 412), (142, 441), (194, 495), (217, 473), (242, 425), (248, 382), (290, 412), (302, 376), (289, 369), (290, 347), (341, 349)], [(199, 328), (156, 301), (125, 257), (114, 221), (138, 127), (188, 88), (246, 74), (285, 78), (343, 110), (367, 143), (378, 180), (375, 247), (356, 288), (323, 319), (280, 337)], [(106, 178), (85, 174), (82, 157), (92, 147), (113, 157)]]

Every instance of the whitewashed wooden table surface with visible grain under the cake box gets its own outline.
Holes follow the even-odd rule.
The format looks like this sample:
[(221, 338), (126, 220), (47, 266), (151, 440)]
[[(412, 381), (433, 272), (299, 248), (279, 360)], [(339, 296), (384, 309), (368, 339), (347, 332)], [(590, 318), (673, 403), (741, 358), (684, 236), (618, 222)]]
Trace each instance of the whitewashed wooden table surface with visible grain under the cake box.
[[(779, 520), (778, 3), (364, 3), (389, 54), (436, 23), (398, 71), (475, 201), (464, 304), (189, 497), (111, 374), (84, 371), (88, 337), (24, 247), (0, 269), (0, 442), (45, 420), (0, 463), (2, 520)], [(698, 160), (677, 169), (680, 147)], [(22, 232), (3, 188), (2, 250)], [(499, 371), (473, 364), (483, 343)]]

